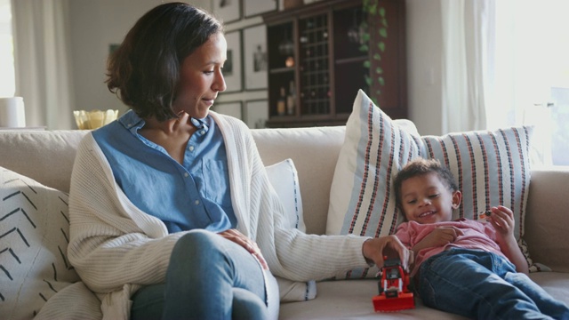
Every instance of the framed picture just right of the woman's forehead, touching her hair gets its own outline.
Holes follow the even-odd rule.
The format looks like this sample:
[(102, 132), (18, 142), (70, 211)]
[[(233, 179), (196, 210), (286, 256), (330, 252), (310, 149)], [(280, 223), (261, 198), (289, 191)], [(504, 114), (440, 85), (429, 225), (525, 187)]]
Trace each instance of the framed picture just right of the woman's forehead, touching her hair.
[(241, 30), (228, 32), (225, 39), (228, 42), (228, 60), (223, 64), (223, 77), (228, 86), (225, 92), (240, 92), (243, 90)]

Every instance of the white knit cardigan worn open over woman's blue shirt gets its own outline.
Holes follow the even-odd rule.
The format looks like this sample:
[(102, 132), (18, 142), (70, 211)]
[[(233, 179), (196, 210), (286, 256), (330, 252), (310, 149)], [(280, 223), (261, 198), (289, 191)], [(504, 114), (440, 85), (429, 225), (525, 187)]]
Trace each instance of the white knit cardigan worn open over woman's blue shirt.
[[(251, 132), (236, 118), (211, 114), (227, 148), (237, 228), (259, 244), (273, 275), (306, 282), (367, 266), (363, 237), (306, 235), (284, 228), (283, 206)], [(168, 234), (161, 220), (130, 202), (91, 133), (77, 148), (69, 216), (70, 262), (98, 293), (105, 318), (128, 319), (132, 293), (140, 285), (164, 283), (172, 247), (184, 232)], [(274, 278), (267, 279), (268, 292), (274, 292)], [(276, 316), (278, 299), (269, 298), (268, 304)]]

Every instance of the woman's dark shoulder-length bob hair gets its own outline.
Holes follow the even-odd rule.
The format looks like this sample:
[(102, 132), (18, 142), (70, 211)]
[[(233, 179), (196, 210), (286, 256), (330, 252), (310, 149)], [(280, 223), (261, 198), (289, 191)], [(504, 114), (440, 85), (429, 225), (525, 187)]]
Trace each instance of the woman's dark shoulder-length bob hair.
[(143, 15), (107, 63), (110, 92), (142, 118), (176, 117), (172, 101), (183, 60), (223, 26), (212, 15), (184, 3), (160, 4)]

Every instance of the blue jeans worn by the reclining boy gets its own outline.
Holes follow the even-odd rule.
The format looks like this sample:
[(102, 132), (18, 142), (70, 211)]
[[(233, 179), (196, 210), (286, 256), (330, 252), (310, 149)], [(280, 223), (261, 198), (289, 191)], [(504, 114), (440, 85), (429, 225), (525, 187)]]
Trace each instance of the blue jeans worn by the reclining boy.
[(426, 306), (478, 319), (569, 319), (553, 299), (501, 255), (452, 249), (425, 260), (419, 295)]

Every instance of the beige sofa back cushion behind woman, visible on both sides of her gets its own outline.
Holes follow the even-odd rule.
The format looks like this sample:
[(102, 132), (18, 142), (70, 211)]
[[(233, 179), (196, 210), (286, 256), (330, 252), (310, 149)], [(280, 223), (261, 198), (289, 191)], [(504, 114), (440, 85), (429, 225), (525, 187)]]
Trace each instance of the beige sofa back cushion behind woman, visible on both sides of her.
[[(254, 129), (265, 165), (292, 158), (299, 173), (309, 233), (324, 234), (334, 167), (344, 139), (343, 126)], [(76, 148), (88, 131), (1, 130), (0, 166), (50, 188), (69, 191)]]

